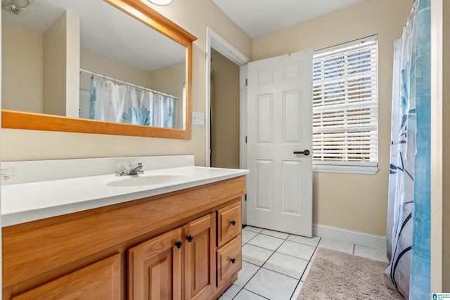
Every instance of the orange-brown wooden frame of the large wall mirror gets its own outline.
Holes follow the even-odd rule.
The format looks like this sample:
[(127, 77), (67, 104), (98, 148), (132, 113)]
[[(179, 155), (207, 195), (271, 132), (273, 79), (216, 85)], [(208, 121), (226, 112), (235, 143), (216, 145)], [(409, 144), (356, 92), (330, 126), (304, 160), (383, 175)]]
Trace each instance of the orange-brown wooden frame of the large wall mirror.
[[(49, 0), (51, 1), (51, 0)], [(79, 0), (65, 0), (66, 2)], [(89, 0), (92, 1), (92, 0)], [(100, 1), (100, 0), (96, 0)], [(177, 128), (165, 128), (159, 126), (145, 126), (136, 124), (124, 124), (118, 122), (106, 122), (99, 121), (96, 119), (83, 119), (80, 117), (67, 117), (65, 115), (49, 115), (46, 112), (25, 112), (20, 109), (6, 109), (4, 98), (2, 98), (2, 109), (1, 110), (1, 126), (7, 129), (30, 129), (30, 130), (42, 130), (42, 131), (63, 131), (63, 132), (75, 132), (75, 133), (97, 133), (97, 134), (113, 134), (120, 136), (145, 136), (145, 137), (155, 137), (155, 138), (179, 138), (179, 139), (191, 139), (191, 87), (192, 87), (192, 51), (193, 41), (196, 38), (188, 33), (183, 28), (176, 25), (171, 20), (165, 18), (163, 15), (153, 10), (140, 0), (104, 0), (101, 1), (102, 5), (106, 4), (108, 7), (114, 8), (119, 11), (121, 15), (126, 16), (132, 22), (138, 22), (141, 26), (146, 25), (148, 30), (155, 30), (159, 34), (164, 35), (169, 38), (172, 42), (181, 45), (186, 49), (185, 51), (185, 62), (184, 62), (184, 84), (183, 84), (183, 100), (185, 100), (184, 105), (180, 105), (179, 114), (182, 114), (183, 122), (182, 125)], [(37, 1), (34, 1), (36, 4)], [(92, 3), (92, 2), (91, 2)], [(34, 5), (32, 4), (32, 5)], [(98, 13), (102, 13), (99, 11)], [(126, 13), (126, 14), (125, 14)], [(85, 18), (80, 18), (79, 22), (84, 22)], [(112, 20), (114, 22), (114, 20)], [(117, 24), (118, 27), (112, 28), (111, 31), (115, 30), (115, 33), (121, 31), (122, 29), (127, 35), (132, 35), (134, 32), (131, 28), (126, 27), (122, 24)], [(81, 30), (82, 31), (82, 30)], [(141, 34), (141, 42), (145, 44), (147, 34)], [(82, 39), (82, 38), (80, 38)], [(100, 41), (101, 42), (101, 41)], [(83, 41), (81, 42), (81, 44)], [(127, 43), (124, 43), (127, 44)], [(128, 44), (131, 46), (130, 44)], [(5, 44), (3, 44), (5, 46)], [(114, 48), (114, 47), (110, 47)], [(131, 49), (132, 50), (132, 49)], [(141, 49), (145, 51), (145, 49)], [(2, 50), (3, 51), (3, 50)], [(123, 53), (122, 55), (131, 58), (137, 57), (133, 51), (129, 53)], [(166, 51), (167, 52), (167, 51)], [(155, 58), (155, 60), (162, 60), (160, 58)], [(78, 67), (82, 69), (82, 64)], [(95, 71), (95, 70), (92, 70)], [(79, 71), (77, 71), (79, 72)], [(81, 74), (82, 72), (79, 72)], [(94, 74), (94, 72), (92, 72)], [(108, 74), (103, 74), (98, 76), (108, 76)], [(81, 75), (80, 75), (81, 76)], [(120, 80), (120, 75), (118, 75), (117, 80)], [(2, 74), (2, 84), (5, 85), (4, 78), (8, 79), (8, 74), (3, 72)], [(68, 76), (65, 79), (69, 82), (70, 79), (74, 77)], [(124, 81), (127, 84), (127, 81)], [(26, 84), (26, 81), (24, 82)], [(131, 84), (131, 82), (129, 83)], [(134, 84), (137, 88), (137, 84)], [(141, 86), (141, 84), (139, 85)], [(150, 86), (150, 89), (152, 87)], [(68, 89), (69, 90), (69, 89)], [(157, 91), (159, 91), (157, 89)], [(162, 91), (164, 92), (164, 91)], [(69, 91), (66, 91), (69, 93)], [(89, 94), (89, 93), (88, 93)], [(2, 96), (4, 93), (2, 93)], [(45, 98), (46, 95), (42, 96)], [(88, 97), (89, 98), (89, 97)], [(66, 100), (67, 101), (67, 100)], [(89, 106), (89, 105), (88, 105)], [(179, 122), (181, 123), (181, 121)]]

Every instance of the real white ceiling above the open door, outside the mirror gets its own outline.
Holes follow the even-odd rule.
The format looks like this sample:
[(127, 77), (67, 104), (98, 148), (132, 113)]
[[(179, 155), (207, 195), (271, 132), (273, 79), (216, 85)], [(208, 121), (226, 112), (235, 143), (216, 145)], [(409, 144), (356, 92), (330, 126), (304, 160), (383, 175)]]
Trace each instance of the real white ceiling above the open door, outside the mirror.
[(364, 0), (212, 0), (255, 39)]

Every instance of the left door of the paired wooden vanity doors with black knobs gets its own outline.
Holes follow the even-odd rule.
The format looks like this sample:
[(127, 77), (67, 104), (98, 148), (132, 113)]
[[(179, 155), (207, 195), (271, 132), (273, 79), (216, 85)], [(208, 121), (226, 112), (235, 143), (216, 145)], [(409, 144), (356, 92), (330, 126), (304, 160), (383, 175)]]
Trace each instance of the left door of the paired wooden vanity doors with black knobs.
[(180, 241), (176, 228), (128, 249), (129, 299), (181, 299)]

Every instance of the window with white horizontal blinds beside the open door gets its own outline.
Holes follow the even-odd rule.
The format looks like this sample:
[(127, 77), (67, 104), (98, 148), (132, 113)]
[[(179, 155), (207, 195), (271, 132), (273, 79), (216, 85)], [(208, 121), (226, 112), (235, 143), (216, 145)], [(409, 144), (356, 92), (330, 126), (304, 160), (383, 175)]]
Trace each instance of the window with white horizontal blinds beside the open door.
[(378, 171), (377, 36), (314, 52), (314, 171)]

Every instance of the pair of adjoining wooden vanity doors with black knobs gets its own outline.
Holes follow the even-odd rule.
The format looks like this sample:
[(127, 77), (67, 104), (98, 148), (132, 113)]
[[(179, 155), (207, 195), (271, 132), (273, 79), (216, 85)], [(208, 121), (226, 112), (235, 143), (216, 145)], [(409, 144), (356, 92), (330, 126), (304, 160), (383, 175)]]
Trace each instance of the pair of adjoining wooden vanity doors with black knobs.
[(207, 214), (131, 247), (129, 299), (181, 299), (182, 287), (184, 299), (210, 299), (215, 285), (215, 220), (214, 213)]

